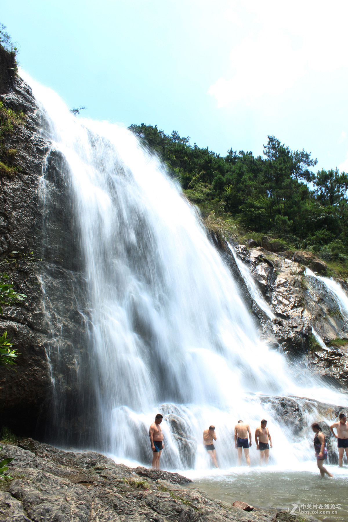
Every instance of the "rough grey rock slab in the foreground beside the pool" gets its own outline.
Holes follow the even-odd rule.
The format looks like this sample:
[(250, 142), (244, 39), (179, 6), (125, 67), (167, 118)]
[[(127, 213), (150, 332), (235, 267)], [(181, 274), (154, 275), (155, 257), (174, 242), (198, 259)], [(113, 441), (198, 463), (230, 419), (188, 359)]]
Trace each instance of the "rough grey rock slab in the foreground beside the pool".
[[(241, 508), (210, 499), (196, 488), (187, 489), (165, 480), (144, 481), (136, 474), (137, 470), (115, 464), (94, 452), (67, 452), (64, 456), (65, 452), (52, 446), (32, 440), (25, 442), (36, 448), (35, 453), (11, 445), (3, 448), (3, 455), (12, 455), (14, 460), (10, 466), (13, 480), (2, 484), (3, 491), (0, 491), (2, 522), (287, 520), (275, 509), (254, 508), (253, 512), (246, 513)], [(54, 457), (55, 461), (39, 454)], [(92, 466), (95, 461), (100, 464)], [(171, 473), (167, 472), (167, 478), (171, 478)]]

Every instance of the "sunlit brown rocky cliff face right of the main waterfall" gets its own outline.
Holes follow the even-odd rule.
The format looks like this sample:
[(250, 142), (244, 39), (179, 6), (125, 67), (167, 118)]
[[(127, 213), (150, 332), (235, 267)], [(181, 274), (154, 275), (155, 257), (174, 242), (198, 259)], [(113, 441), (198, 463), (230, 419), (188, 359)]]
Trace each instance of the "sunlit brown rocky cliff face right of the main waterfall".
[[(321, 272), (325, 270), (325, 264), (306, 252), (277, 254), (260, 246), (249, 248), (238, 243), (234, 243), (233, 247), (250, 270), (275, 316), (272, 319), (260, 310), (246, 288), (232, 253), (227, 250), (225, 257), (240, 281), (246, 302), (257, 318), (263, 338), (274, 348), (295, 358), (296, 364), (302, 363), (333, 386), (347, 389), (347, 319), (340, 312), (338, 301), (327, 286), (321, 280), (305, 274), (308, 264)], [(291, 257), (287, 258), (289, 254)], [(346, 291), (346, 281), (338, 282)], [(322, 338), (323, 346), (314, 337), (312, 329)]]

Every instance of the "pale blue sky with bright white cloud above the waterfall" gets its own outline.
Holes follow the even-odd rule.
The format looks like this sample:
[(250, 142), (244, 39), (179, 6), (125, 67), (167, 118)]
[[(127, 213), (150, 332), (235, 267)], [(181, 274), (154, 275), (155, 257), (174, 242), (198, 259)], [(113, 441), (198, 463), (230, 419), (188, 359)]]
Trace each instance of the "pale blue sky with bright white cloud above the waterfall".
[(17, 0), (20, 66), (83, 116), (262, 153), (268, 134), (348, 171), (348, 3)]

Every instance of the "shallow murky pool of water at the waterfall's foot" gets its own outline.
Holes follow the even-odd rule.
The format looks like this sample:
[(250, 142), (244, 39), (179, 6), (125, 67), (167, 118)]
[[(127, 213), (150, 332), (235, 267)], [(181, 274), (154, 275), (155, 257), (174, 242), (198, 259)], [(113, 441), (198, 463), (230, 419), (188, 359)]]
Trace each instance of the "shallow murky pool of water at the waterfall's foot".
[(242, 467), (219, 474), (217, 470), (206, 477), (191, 476), (191, 487), (230, 504), (241, 500), (256, 507), (289, 511), (297, 505), (296, 514), (307, 512), (327, 522), (348, 521), (348, 468), (327, 466), (334, 478), (321, 479), (315, 463), (308, 465), (308, 471)]

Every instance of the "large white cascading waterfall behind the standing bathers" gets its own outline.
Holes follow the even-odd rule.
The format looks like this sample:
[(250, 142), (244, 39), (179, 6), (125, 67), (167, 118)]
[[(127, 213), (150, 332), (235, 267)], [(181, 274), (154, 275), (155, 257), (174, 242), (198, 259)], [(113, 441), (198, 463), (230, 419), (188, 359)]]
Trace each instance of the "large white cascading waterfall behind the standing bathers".
[[(196, 209), (132, 133), (77, 119), (55, 93), (27, 81), (45, 116), (42, 134), (66, 159), (74, 201), (85, 281), (77, 291), (87, 294), (86, 351), (95, 361), (78, 371), (93, 382), (97, 397), (94, 446), (118, 460), (148, 465), (149, 424), (160, 411), (161, 460), (170, 469), (210, 467), (201, 437), (212, 423), (219, 464), (233, 466), (238, 419), (252, 430), (268, 419), (274, 465), (296, 468), (313, 459), (309, 430), (293, 441), (259, 396), (342, 405), (346, 398), (303, 372), (293, 374), (285, 358), (260, 341)], [(59, 347), (52, 346), (54, 379)], [(315, 415), (308, 413), (308, 423)], [(257, 459), (254, 444), (251, 460)]]

